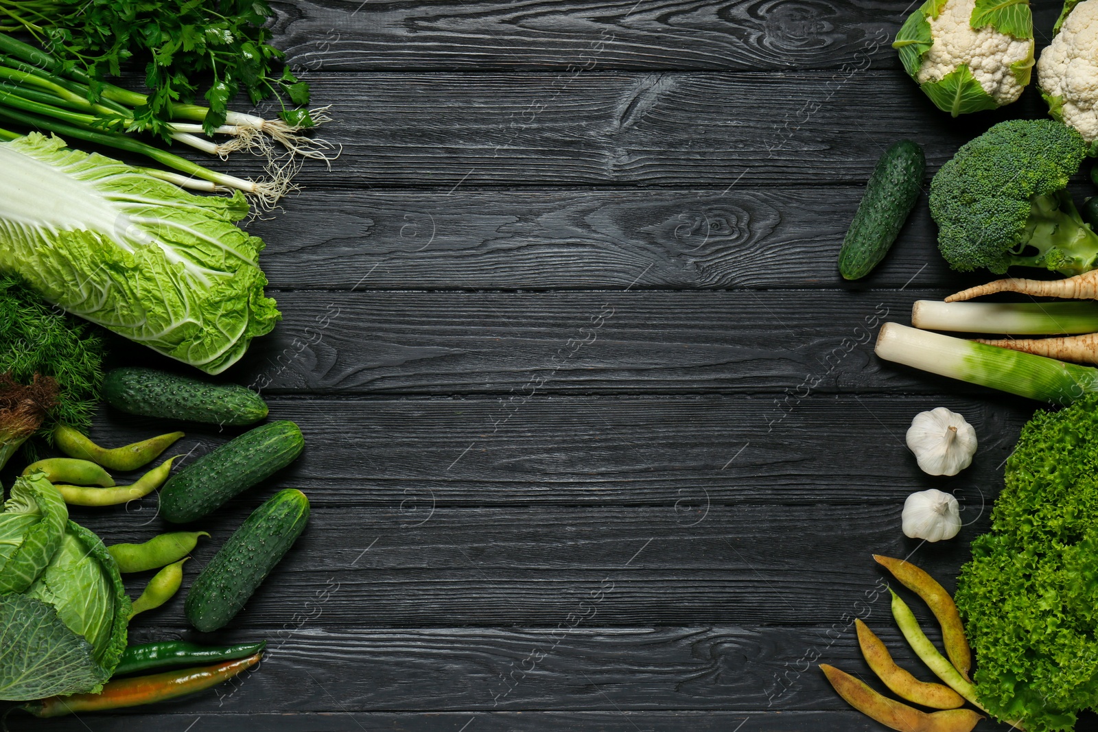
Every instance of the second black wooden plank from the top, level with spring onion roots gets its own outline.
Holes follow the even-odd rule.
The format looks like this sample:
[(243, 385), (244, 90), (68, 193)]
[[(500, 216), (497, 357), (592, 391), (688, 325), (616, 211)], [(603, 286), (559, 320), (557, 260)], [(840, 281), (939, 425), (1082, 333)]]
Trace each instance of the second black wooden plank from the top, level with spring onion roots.
[[(953, 120), (899, 71), (317, 74), (343, 146), (306, 188), (862, 183), (898, 136), (931, 169), (1000, 121)], [(872, 99), (872, 105), (866, 100)], [(276, 110), (267, 110), (273, 113)], [(1034, 90), (1007, 116), (1043, 117)], [(903, 131), (903, 132), (900, 132)], [(255, 158), (229, 171), (260, 174)]]

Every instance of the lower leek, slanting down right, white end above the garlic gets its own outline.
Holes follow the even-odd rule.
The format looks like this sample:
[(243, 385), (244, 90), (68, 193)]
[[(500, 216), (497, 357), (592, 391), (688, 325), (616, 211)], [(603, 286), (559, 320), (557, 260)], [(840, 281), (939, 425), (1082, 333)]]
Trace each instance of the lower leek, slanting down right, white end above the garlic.
[(881, 326), (875, 350), (886, 361), (1053, 404), (1066, 405), (1084, 394), (1098, 393), (1098, 369), (1093, 367), (976, 344), (898, 323)]

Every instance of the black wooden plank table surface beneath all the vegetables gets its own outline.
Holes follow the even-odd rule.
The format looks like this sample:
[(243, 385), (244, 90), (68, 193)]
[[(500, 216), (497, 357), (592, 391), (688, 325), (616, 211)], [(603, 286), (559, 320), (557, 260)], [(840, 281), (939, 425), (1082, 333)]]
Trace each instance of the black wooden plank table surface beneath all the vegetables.
[[(344, 151), (250, 226), (284, 320), (227, 375), (307, 448), (197, 525), (213, 536), (187, 583), (278, 487), (313, 518), (225, 631), (189, 629), (181, 598), (132, 624), (269, 639), (258, 671), (48, 729), (883, 729), (816, 663), (869, 674), (860, 617), (920, 668), (871, 554), (952, 588), (1035, 406), (873, 356), (881, 322), (987, 278), (949, 271), (925, 201), (873, 275), (836, 272), (889, 144), (921, 143), (929, 174), (1044, 113), (1033, 89), (998, 114), (934, 110), (889, 46), (912, 5), (280, 3)], [(1040, 46), (1058, 9), (1034, 11)], [(981, 441), (954, 478), (904, 444), (943, 405)], [(104, 413), (96, 435), (163, 427)], [(900, 532), (927, 487), (963, 502), (956, 540)], [(109, 543), (165, 527), (153, 502), (74, 516)]]

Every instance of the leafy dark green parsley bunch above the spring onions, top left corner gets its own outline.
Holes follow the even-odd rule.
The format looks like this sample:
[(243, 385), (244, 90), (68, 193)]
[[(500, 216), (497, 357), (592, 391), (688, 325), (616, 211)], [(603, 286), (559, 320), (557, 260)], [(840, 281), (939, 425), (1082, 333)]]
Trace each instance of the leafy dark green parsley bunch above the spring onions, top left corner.
[[(266, 0), (0, 0), (0, 31), (25, 30), (54, 56), (94, 79), (117, 76), (123, 64), (144, 61), (152, 91), (137, 106), (142, 128), (163, 132), (173, 103), (201, 94), (210, 105), (206, 132), (225, 123), (228, 102), (245, 91), (253, 104), (274, 97), (279, 116), (313, 126), (309, 85), (283, 66), (265, 23)], [(280, 69), (280, 70), (279, 70)]]

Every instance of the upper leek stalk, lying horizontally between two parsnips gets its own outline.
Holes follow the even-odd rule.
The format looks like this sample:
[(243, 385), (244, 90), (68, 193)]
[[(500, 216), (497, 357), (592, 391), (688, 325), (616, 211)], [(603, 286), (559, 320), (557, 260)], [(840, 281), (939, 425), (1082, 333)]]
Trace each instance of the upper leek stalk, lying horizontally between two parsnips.
[(1098, 302), (942, 303), (916, 301), (911, 325), (928, 330), (1060, 335), (1098, 333)]

